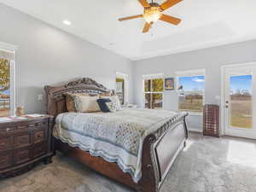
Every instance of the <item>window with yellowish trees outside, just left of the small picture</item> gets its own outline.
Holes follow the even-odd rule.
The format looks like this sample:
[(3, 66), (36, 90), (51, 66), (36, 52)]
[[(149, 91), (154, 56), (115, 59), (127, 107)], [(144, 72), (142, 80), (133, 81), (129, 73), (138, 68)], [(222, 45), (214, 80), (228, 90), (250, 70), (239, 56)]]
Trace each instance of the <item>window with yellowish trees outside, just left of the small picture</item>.
[(162, 74), (144, 75), (143, 92), (145, 108), (163, 107), (164, 79)]

